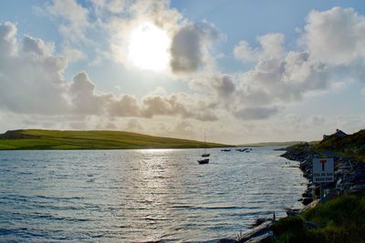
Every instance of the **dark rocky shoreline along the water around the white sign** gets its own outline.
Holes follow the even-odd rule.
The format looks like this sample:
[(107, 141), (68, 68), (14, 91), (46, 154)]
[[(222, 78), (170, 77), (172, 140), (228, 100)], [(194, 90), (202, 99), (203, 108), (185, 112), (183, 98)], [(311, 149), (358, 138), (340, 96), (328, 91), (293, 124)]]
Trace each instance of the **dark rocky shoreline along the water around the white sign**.
[[(287, 214), (297, 214), (306, 208), (315, 207), (319, 201), (319, 185), (314, 184), (312, 180), (312, 161), (313, 158), (318, 157), (333, 157), (335, 162), (335, 179), (332, 183), (327, 183), (325, 187), (325, 200), (344, 193), (361, 193), (365, 191), (365, 163), (362, 163), (354, 157), (343, 157), (339, 154), (329, 152), (312, 150), (310, 147), (301, 147), (300, 149), (294, 147), (287, 147), (282, 149), (286, 151), (281, 157), (289, 160), (295, 160), (300, 163), (299, 167), (303, 172), (303, 177), (308, 179), (308, 188), (302, 194), (302, 201), (305, 208), (301, 210), (288, 209)], [(245, 232), (245, 234), (238, 234), (236, 239), (220, 239), (218, 242), (234, 243), (234, 242), (256, 242), (268, 243), (275, 241), (275, 233), (272, 230), (275, 218), (261, 218), (255, 228)], [(308, 222), (310, 224), (310, 222)]]

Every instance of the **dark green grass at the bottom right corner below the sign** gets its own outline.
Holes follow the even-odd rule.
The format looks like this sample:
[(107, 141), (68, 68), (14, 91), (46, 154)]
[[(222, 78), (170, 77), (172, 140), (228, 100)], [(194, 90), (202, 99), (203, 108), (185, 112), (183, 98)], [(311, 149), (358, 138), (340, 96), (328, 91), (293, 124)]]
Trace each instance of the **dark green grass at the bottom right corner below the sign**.
[(365, 242), (365, 194), (332, 198), (300, 216), (279, 219), (273, 230), (276, 242)]

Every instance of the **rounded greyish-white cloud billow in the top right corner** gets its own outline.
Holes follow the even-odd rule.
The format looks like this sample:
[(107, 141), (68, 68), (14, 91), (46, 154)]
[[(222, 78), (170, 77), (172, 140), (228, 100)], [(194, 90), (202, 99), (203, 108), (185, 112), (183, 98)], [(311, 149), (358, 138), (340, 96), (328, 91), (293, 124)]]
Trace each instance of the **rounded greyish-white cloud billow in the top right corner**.
[(352, 8), (313, 10), (302, 42), (310, 56), (328, 65), (348, 65), (365, 56), (365, 17)]

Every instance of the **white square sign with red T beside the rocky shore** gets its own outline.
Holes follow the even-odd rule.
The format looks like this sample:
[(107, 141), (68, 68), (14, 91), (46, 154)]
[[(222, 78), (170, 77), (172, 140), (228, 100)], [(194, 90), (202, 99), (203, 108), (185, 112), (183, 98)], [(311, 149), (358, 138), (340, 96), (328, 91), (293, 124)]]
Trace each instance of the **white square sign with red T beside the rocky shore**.
[(333, 182), (334, 162), (333, 158), (313, 158), (313, 182)]

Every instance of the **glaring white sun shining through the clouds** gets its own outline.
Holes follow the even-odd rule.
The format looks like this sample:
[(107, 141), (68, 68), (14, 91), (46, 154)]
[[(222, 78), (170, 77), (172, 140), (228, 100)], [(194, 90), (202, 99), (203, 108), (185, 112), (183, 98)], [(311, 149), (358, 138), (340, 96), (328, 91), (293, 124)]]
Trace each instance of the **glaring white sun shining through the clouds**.
[(143, 22), (130, 35), (129, 60), (141, 69), (162, 72), (169, 66), (171, 40), (157, 25)]

